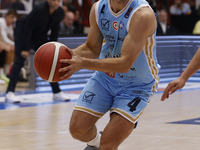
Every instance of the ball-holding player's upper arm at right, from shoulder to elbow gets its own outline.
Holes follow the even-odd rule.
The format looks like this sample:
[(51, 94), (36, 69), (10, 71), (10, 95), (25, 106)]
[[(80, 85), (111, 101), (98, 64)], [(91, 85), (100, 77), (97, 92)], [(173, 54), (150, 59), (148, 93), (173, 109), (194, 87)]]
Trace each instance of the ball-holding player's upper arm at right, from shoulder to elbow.
[(149, 7), (143, 7), (133, 15), (121, 51), (121, 58), (128, 65), (126, 71), (130, 70), (156, 27), (156, 16)]

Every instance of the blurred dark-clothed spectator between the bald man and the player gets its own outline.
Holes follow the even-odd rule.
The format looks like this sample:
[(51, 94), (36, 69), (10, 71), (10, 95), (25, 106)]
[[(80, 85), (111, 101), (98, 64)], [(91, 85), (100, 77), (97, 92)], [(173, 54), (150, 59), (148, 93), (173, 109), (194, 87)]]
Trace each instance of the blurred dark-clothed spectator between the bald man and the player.
[(83, 24), (82, 18), (80, 15), (80, 11), (78, 9), (75, 10), (75, 17), (74, 17), (74, 34), (75, 35), (83, 35)]

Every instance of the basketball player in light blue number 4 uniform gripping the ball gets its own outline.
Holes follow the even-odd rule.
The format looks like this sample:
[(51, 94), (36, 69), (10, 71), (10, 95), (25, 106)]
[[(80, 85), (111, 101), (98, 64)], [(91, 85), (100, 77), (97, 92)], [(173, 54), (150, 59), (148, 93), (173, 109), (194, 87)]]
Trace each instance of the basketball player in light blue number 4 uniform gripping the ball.
[[(70, 64), (60, 69), (67, 71), (61, 78), (82, 68), (96, 70), (70, 121), (71, 135), (87, 143), (85, 150), (117, 150), (157, 91), (156, 26), (145, 0), (98, 1), (91, 9), (87, 41), (70, 50), (71, 60), (61, 60)], [(108, 111), (110, 121), (101, 135), (95, 123)]]

